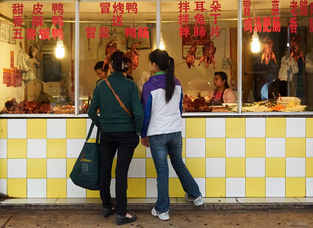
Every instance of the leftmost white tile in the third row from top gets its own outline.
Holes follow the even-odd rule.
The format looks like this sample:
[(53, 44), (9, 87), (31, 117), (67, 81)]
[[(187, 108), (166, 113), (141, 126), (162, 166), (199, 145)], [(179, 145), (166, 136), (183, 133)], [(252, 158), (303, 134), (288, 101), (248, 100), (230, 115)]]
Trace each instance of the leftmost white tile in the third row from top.
[(27, 178), (27, 159), (8, 159), (8, 178)]

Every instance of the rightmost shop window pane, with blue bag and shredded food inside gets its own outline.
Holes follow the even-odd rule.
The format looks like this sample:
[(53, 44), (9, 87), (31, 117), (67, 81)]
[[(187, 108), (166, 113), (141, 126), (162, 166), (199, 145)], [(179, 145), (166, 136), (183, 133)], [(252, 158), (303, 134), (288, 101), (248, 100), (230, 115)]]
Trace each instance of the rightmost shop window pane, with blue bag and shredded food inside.
[(242, 111), (312, 111), (310, 2), (243, 0)]

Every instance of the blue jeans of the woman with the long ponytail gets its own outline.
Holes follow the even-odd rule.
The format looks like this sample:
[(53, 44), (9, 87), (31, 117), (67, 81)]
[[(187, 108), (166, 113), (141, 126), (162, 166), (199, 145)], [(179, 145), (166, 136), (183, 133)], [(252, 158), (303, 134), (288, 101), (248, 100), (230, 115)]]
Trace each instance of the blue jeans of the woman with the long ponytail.
[(157, 174), (156, 212), (170, 209), (167, 151), (184, 191), (192, 199), (201, 196), (198, 184), (182, 161), (182, 132), (149, 136), (149, 144)]

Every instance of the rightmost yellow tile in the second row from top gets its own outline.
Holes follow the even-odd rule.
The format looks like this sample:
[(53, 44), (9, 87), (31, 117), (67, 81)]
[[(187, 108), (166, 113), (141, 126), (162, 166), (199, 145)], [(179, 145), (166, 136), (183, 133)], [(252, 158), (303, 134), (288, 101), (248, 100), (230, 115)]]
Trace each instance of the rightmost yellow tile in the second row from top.
[(305, 158), (305, 138), (286, 138), (286, 158)]

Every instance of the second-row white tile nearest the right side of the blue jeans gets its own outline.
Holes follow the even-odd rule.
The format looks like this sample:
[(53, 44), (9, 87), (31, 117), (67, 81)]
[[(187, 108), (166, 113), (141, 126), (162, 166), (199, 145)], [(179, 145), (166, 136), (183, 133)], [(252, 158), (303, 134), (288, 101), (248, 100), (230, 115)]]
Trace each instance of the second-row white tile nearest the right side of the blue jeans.
[(186, 138), (186, 158), (205, 158), (205, 138)]

